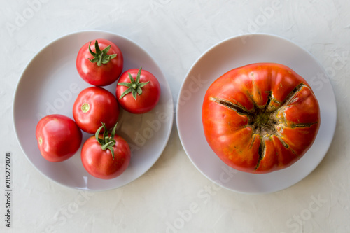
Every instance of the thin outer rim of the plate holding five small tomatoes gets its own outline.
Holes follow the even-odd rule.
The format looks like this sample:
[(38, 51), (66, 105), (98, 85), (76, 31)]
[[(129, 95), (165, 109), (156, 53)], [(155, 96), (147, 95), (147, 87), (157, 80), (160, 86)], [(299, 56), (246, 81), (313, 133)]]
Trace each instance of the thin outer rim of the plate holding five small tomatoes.
[[(118, 187), (112, 187), (112, 188), (102, 188), (102, 189), (90, 189), (90, 188), (79, 188), (79, 187), (75, 187), (75, 186), (69, 186), (69, 185), (64, 185), (64, 183), (60, 183), (59, 181), (56, 181), (53, 178), (50, 178), (48, 175), (46, 175), (43, 171), (41, 171), (41, 169), (38, 169), (38, 167), (34, 164), (34, 162), (32, 162), (29, 157), (27, 156), (27, 153), (25, 152), (24, 148), (22, 147), (22, 143), (20, 142), (19, 136), (18, 136), (18, 127), (16, 127), (15, 124), (15, 101), (16, 101), (16, 97), (18, 94), (18, 88), (20, 86), (20, 83), (22, 81), (22, 77), (25, 73), (25, 71), (27, 71), (27, 69), (29, 68), (29, 66), (31, 65), (31, 63), (33, 62), (33, 60), (41, 54), (41, 52), (43, 52), (43, 50), (49, 48), (51, 45), (53, 45), (54, 43), (57, 43), (57, 41), (62, 40), (64, 38), (66, 38), (67, 36), (73, 36), (76, 34), (83, 34), (83, 33), (96, 33), (96, 34), (110, 34), (111, 36), (118, 36), (120, 38), (123, 38), (125, 40), (127, 40), (129, 43), (132, 43), (134, 45), (136, 45), (138, 47), (139, 50), (142, 50), (143, 52), (146, 53), (146, 55), (148, 55), (149, 57), (151, 57), (153, 63), (155, 64), (155, 66), (157, 66), (157, 68), (159, 69), (159, 72), (161, 73), (162, 77), (164, 77), (165, 79), (165, 84), (167, 85), (167, 89), (169, 90), (169, 97), (172, 101), (170, 101), (170, 99), (167, 100), (167, 104), (170, 104), (171, 106), (168, 106), (167, 108), (169, 108), (169, 129), (167, 129), (167, 137), (164, 140), (164, 143), (162, 145), (162, 148), (160, 148), (160, 155), (158, 155), (157, 157), (155, 157), (154, 162), (152, 162), (151, 167), (148, 167), (148, 169), (145, 169), (144, 172), (142, 172), (139, 176), (137, 176), (136, 178), (132, 179), (131, 181), (124, 183), (123, 185), (119, 185)], [(162, 71), (160, 65), (158, 64), (158, 62), (153, 58), (153, 56), (144, 48), (141, 47), (141, 45), (139, 45), (139, 43), (133, 41), (130, 38), (127, 38), (126, 36), (123, 36), (121, 34), (117, 34), (114, 33), (112, 31), (106, 31), (106, 30), (101, 30), (101, 29), (83, 29), (83, 30), (79, 30), (79, 31), (72, 31), (66, 34), (63, 34), (62, 36), (58, 36), (57, 38), (49, 41), (48, 43), (45, 43), (45, 45), (43, 45), (40, 49), (38, 49), (38, 52), (36, 52), (34, 55), (32, 55), (31, 57), (29, 57), (29, 60), (27, 61), (27, 63), (25, 64), (24, 68), (22, 69), (22, 71), (20, 72), (18, 81), (15, 85), (15, 89), (12, 95), (12, 110), (11, 110), (11, 120), (12, 120), (12, 126), (15, 132), (15, 138), (16, 141), (18, 142), (18, 146), (20, 147), (20, 150), (22, 151), (23, 155), (25, 155), (27, 161), (29, 161), (29, 163), (31, 164), (32, 167), (34, 167), (34, 170), (38, 171), (39, 174), (43, 175), (45, 178), (47, 178), (50, 181), (53, 181), (54, 183), (57, 183), (60, 186), (63, 186), (65, 188), (69, 188), (69, 189), (73, 189), (73, 190), (85, 190), (88, 192), (104, 192), (104, 191), (109, 191), (109, 190), (115, 190), (117, 188), (122, 188), (123, 186), (130, 184), (134, 181), (136, 181), (137, 179), (141, 178), (141, 176), (144, 176), (144, 174), (146, 174), (147, 171), (149, 171), (154, 164), (159, 160), (160, 156), (162, 155), (162, 153), (164, 152), (165, 148), (167, 147), (167, 144), (169, 143), (169, 139), (170, 136), (172, 134), (172, 128), (174, 125), (174, 98), (172, 96), (172, 90), (169, 86), (169, 82), (167, 81), (167, 78), (164, 74), (164, 72)], [(83, 142), (80, 146), (83, 145)]]

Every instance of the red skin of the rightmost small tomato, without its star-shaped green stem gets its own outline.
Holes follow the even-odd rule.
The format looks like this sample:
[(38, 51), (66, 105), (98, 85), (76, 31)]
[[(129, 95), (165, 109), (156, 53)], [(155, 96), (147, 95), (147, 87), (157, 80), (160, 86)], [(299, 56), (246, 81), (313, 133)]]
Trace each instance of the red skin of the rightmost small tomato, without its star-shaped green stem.
[[(122, 73), (120, 76), (118, 83), (130, 83), (130, 73), (132, 77), (136, 80), (137, 73), (139, 69), (129, 69)], [(158, 104), (160, 99), (160, 83), (158, 79), (153, 76), (153, 74), (149, 71), (142, 70), (140, 76), (140, 83), (149, 83), (142, 87), (142, 94), (137, 94), (137, 99), (135, 100), (132, 96), (132, 93), (126, 94), (123, 98), (120, 99), (121, 95), (127, 87), (123, 85), (118, 85), (116, 87), (116, 97), (118, 102), (122, 108), (126, 111), (134, 114), (142, 114), (151, 111)]]

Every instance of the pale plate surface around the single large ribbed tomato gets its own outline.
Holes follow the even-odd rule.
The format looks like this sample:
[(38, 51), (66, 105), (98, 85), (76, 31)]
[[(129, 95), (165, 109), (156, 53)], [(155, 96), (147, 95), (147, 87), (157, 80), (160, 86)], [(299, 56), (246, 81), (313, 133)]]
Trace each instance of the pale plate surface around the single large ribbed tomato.
[[(314, 145), (292, 166), (269, 174), (230, 169), (209, 147), (202, 126), (202, 101), (209, 85), (231, 69), (256, 62), (284, 64), (299, 73), (313, 88), (321, 108), (321, 127)], [(336, 114), (328, 76), (309, 52), (278, 36), (248, 34), (222, 41), (197, 59), (181, 87), (176, 121), (183, 148), (204, 176), (236, 192), (266, 193), (294, 185), (318, 166), (332, 141)]]

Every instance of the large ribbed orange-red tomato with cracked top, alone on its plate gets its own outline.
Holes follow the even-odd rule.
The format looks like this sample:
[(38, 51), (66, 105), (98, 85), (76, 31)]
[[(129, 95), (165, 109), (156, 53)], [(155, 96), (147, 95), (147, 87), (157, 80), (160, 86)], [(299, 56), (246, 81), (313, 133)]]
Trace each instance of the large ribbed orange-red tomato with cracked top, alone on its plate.
[(292, 69), (249, 64), (211, 84), (202, 122), (209, 146), (223, 162), (262, 174), (289, 167), (309, 150), (320, 110), (309, 84)]

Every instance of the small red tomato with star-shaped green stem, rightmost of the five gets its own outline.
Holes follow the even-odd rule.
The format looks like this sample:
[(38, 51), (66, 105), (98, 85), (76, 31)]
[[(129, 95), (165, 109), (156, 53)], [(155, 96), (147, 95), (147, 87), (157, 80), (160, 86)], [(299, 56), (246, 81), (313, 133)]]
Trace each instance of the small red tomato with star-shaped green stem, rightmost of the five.
[(160, 99), (160, 84), (152, 73), (140, 69), (125, 71), (119, 78), (116, 97), (130, 113), (147, 113)]

